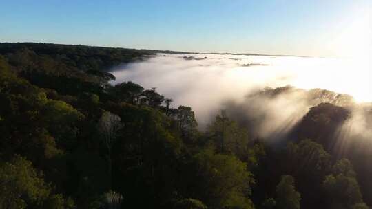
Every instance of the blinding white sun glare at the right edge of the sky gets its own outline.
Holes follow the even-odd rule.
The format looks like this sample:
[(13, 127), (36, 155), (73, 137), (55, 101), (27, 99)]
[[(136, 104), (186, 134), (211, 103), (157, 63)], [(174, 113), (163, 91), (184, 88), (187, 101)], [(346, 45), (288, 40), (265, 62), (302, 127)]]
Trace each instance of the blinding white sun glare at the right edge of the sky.
[(344, 90), (351, 93), (356, 102), (372, 102), (371, 8), (354, 10), (345, 19), (347, 21), (341, 21), (342, 30), (338, 31), (331, 42), (336, 54), (349, 63), (347, 66), (340, 66), (340, 71), (344, 71), (340, 75), (347, 76), (349, 82), (337, 85), (340, 89), (347, 86)]

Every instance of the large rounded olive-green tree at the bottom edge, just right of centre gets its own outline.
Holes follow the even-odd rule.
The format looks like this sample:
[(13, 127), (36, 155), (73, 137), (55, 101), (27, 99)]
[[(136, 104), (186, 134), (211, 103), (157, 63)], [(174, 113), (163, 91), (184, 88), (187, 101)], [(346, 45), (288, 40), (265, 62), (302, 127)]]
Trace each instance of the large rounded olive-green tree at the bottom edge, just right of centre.
[(194, 156), (196, 192), (211, 208), (254, 208), (249, 195), (254, 179), (247, 165), (234, 156), (205, 150)]

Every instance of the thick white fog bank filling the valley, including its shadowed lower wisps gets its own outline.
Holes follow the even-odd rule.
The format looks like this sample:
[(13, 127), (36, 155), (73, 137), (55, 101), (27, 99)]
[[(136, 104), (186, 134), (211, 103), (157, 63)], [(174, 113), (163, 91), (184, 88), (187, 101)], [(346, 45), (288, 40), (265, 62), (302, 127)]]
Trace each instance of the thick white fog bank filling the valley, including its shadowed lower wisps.
[(353, 131), (350, 125), (341, 131), (348, 129), (348, 134), (371, 131), (367, 124), (365, 129), (355, 130), (355, 124), (363, 124), (367, 119), (365, 112), (347, 95), (353, 95), (358, 101), (372, 100), (371, 76), (364, 61), (158, 54), (143, 62), (116, 67), (113, 74), (115, 83), (132, 80), (146, 89), (157, 87), (159, 93), (174, 100), (172, 106), (192, 107), (200, 129), (205, 128), (220, 109), (226, 109), (232, 119), (247, 126), (256, 137), (284, 137), (310, 107), (330, 102), (353, 112), (350, 119)]

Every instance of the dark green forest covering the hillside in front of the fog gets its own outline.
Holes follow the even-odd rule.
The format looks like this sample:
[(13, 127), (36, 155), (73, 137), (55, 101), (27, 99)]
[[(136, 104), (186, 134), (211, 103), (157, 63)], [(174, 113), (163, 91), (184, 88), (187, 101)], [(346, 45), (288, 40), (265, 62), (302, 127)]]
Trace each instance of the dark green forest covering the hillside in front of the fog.
[(313, 107), (276, 143), (232, 103), (200, 130), (156, 87), (110, 83), (112, 67), (157, 52), (0, 43), (0, 209), (372, 206), (372, 139), (334, 137), (351, 96), (306, 91)]

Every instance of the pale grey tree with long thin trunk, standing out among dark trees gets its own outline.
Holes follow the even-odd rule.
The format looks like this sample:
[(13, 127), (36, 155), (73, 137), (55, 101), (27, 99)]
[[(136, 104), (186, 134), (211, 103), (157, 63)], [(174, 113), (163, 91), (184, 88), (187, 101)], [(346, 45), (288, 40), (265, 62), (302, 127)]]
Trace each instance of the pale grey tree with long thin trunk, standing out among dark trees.
[(102, 135), (103, 143), (107, 148), (108, 173), (110, 177), (110, 187), (112, 179), (112, 144), (116, 139), (116, 132), (121, 128), (121, 118), (110, 112), (104, 112), (99, 119), (99, 131)]

